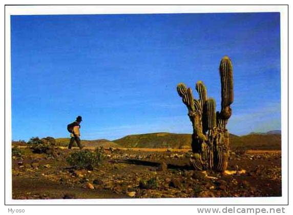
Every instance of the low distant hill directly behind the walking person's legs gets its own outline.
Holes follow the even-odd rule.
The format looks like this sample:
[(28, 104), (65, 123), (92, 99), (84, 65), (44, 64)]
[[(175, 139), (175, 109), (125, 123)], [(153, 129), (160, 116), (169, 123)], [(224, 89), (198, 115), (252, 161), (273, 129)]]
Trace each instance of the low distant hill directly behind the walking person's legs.
[[(68, 146), (70, 139), (69, 138), (56, 138), (56, 145), (58, 146)], [(83, 146), (89, 147), (120, 147), (117, 143), (111, 142), (109, 140), (81, 140)]]

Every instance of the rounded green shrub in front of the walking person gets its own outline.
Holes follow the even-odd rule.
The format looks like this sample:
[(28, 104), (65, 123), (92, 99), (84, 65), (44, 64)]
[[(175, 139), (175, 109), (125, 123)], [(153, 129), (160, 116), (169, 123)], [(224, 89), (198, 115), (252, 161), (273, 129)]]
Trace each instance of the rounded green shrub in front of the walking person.
[(88, 149), (73, 152), (66, 159), (67, 163), (76, 169), (93, 170), (101, 161), (101, 157), (97, 156), (97, 152), (91, 152)]

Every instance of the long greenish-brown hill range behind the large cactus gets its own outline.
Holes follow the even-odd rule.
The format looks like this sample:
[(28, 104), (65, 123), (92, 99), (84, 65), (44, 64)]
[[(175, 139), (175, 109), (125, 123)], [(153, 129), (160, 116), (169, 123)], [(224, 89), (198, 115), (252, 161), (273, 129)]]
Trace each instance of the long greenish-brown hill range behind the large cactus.
[[(191, 148), (191, 134), (148, 133), (124, 136), (112, 142), (126, 148)], [(230, 134), (230, 146), (236, 149), (281, 149), (280, 134)]]

